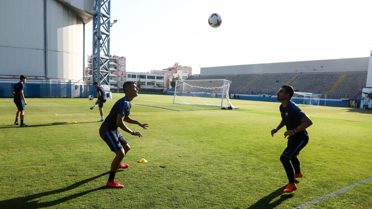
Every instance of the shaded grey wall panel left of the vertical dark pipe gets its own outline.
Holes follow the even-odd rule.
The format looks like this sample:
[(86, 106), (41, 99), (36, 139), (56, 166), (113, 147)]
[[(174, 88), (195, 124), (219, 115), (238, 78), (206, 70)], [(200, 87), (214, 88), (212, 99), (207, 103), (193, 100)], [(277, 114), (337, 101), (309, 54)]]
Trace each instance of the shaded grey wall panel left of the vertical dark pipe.
[(0, 5), (0, 76), (44, 77), (44, 0)]

